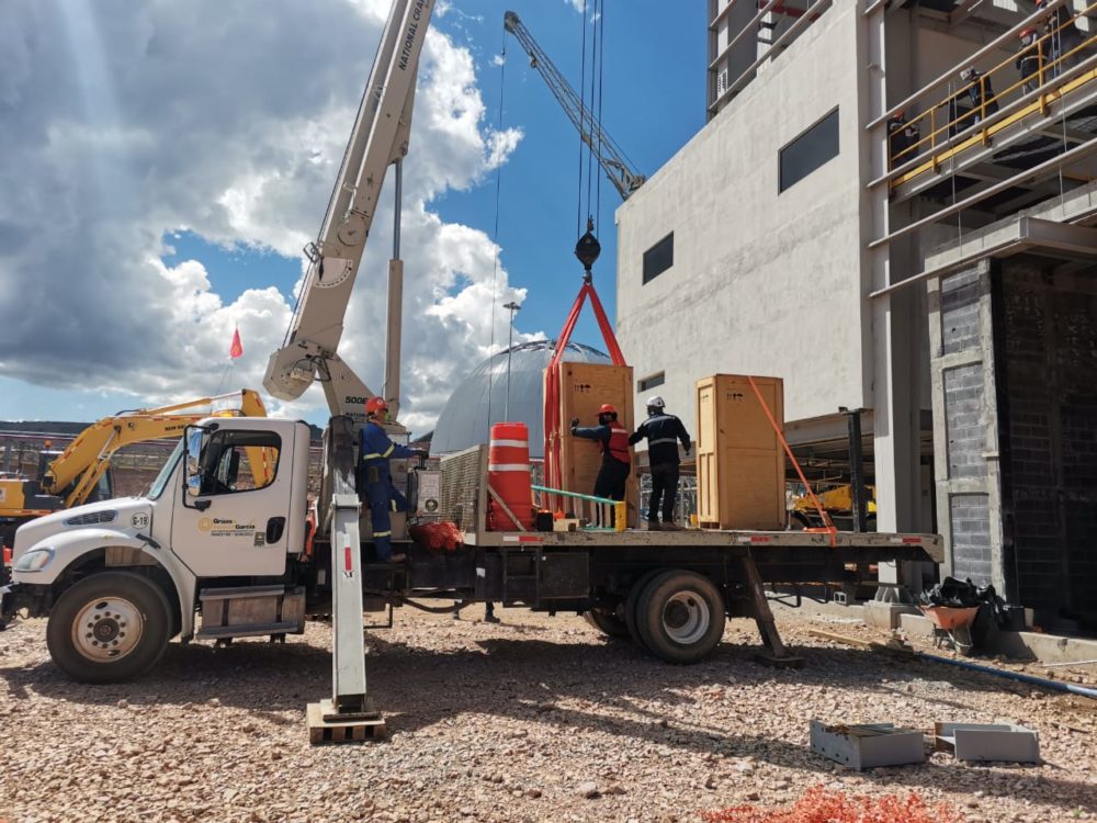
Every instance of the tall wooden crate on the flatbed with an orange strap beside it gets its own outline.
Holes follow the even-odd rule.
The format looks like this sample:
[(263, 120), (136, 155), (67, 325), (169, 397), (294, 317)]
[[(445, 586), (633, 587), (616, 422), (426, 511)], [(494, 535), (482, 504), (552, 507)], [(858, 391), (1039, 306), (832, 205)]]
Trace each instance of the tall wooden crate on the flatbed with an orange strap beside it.
[[(781, 379), (755, 383), (783, 427)], [(784, 449), (745, 375), (698, 381), (697, 485), (702, 528), (784, 528)]]

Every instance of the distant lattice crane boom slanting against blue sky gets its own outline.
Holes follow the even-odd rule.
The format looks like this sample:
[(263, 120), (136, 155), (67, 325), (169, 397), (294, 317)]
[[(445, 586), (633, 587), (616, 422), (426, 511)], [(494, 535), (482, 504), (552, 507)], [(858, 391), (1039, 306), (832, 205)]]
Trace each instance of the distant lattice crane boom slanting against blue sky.
[(522, 24), (518, 15), (512, 11), (508, 11), (502, 18), (502, 25), (508, 32), (514, 35), (514, 40), (525, 49), (525, 53), (530, 56), (530, 66), (535, 68), (541, 77), (544, 78), (545, 83), (548, 86), (548, 91), (556, 98), (556, 102), (561, 104), (564, 114), (579, 129), (579, 137), (598, 158), (599, 166), (602, 167), (606, 177), (613, 183), (613, 188), (618, 190), (621, 200), (627, 200), (629, 195), (643, 185), (647, 178), (636, 173), (632, 169), (632, 165), (625, 157), (624, 151), (606, 133), (601, 123), (598, 122), (593, 113), (583, 102), (583, 98), (575, 93), (575, 89), (564, 79), (564, 75), (556, 68), (552, 58), (533, 40), (533, 35), (530, 34), (529, 29)]

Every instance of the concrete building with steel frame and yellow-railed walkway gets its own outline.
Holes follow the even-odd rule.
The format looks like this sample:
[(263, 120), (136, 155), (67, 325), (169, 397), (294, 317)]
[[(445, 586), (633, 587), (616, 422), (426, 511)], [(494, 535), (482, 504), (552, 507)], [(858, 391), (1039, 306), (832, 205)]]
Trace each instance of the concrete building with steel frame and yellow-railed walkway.
[[(638, 399), (658, 391), (689, 420), (701, 376), (783, 377), (798, 456), (836, 482), (849, 476), (838, 409), (863, 408), (879, 529), (940, 531), (946, 572), (1067, 623), (1097, 619), (1097, 598), (1084, 607), (1064, 594), (1084, 568), (1097, 590), (1097, 550), (1075, 548), (1097, 529), (1060, 507), (1050, 525), (1025, 526), (1045, 528), (1040, 539), (1053, 544), (1026, 560), (1014, 504), (1031, 449), (1015, 442), (1007, 465), (1003, 438), (1024, 435), (1000, 422), (1034, 430), (1036, 418), (1056, 418), (1060, 431), (1097, 431), (1097, 406), (1044, 392), (1017, 414), (1019, 395), (1000, 394), (992, 368), (1016, 386), (1031, 369), (1003, 358), (1020, 358), (1017, 337), (1031, 337), (1030, 348), (1072, 363), (1063, 391), (1079, 373), (1097, 384), (1097, 306), (1079, 296), (1097, 273), (1087, 227), (1097, 223), (1097, 56), (1083, 14), (1097, 7), (708, 5), (709, 122), (617, 213), (618, 336)], [(1020, 41), (1029, 29), (1036, 36)], [(1014, 269), (1018, 284), (1044, 290), (1032, 301), (1066, 301), (1086, 320), (1060, 323), (1049, 308), (1044, 320), (1026, 325), (1017, 309), (1008, 315), (1003, 300), (1031, 292), (1003, 285)], [(958, 271), (969, 280), (942, 285)], [(958, 316), (977, 326), (965, 339), (983, 360), (942, 348)], [(1077, 492), (1063, 477), (1082, 440), (1055, 442), (1040, 494)]]

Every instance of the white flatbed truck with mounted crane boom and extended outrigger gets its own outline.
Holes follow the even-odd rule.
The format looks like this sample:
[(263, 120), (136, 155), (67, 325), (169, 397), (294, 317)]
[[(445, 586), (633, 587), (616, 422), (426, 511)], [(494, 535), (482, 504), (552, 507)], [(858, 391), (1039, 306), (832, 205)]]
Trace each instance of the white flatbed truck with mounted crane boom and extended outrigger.
[[(372, 563), (369, 518), (355, 488), (362, 407), (374, 395), (338, 352), (343, 317), (377, 196), (395, 165), (397, 223), (388, 264), (383, 396), (398, 410), (403, 263), (399, 169), (407, 154), (419, 54), (433, 0), (394, 0), (370, 81), (285, 342), (264, 385), (293, 399), (319, 382), (331, 410), (317, 514), (308, 514), (308, 426), (212, 417), (188, 427), (139, 497), (49, 515), (15, 534), (12, 579), (0, 588), (0, 628), (18, 615), (46, 617), (57, 665), (87, 683), (148, 670), (172, 638), (284, 638), (306, 615), (330, 615), (332, 694), (309, 706), (314, 742), (384, 734), (365, 677), (363, 613), (408, 605), (449, 610), (490, 600), (541, 611), (586, 612), (610, 634), (688, 663), (712, 651), (727, 615), (758, 621), (766, 653), (790, 655), (764, 587), (848, 580), (847, 566), (893, 560), (940, 562), (926, 534), (795, 531), (490, 532), (487, 455), (444, 460), (432, 517), (457, 522), (464, 545), (433, 553), (409, 541), (394, 516), (405, 564)], [(389, 435), (405, 437), (399, 424)], [(250, 458), (262, 454), (262, 471)], [(250, 458), (249, 458), (250, 455)], [(416, 491), (430, 471), (394, 466)], [(412, 509), (415, 510), (415, 509)], [(444, 606), (431, 606), (431, 602)]]

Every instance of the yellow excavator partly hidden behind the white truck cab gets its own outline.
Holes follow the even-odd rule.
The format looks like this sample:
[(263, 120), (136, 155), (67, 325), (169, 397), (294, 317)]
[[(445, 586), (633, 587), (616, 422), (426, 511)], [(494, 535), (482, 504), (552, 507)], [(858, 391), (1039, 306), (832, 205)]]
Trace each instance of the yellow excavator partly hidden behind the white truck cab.
[[(245, 388), (173, 406), (123, 412), (92, 424), (60, 453), (43, 451), (38, 456), (37, 477), (0, 474), (0, 545), (11, 545), (15, 529), (35, 517), (80, 506), (91, 499), (113, 497), (108, 470), (118, 449), (148, 440), (182, 437), (189, 424), (211, 414), (265, 417), (267, 408), (257, 392)], [(265, 471), (268, 461), (261, 455), (249, 454), (249, 459), (257, 471)], [(97, 489), (99, 495), (95, 495)]]

